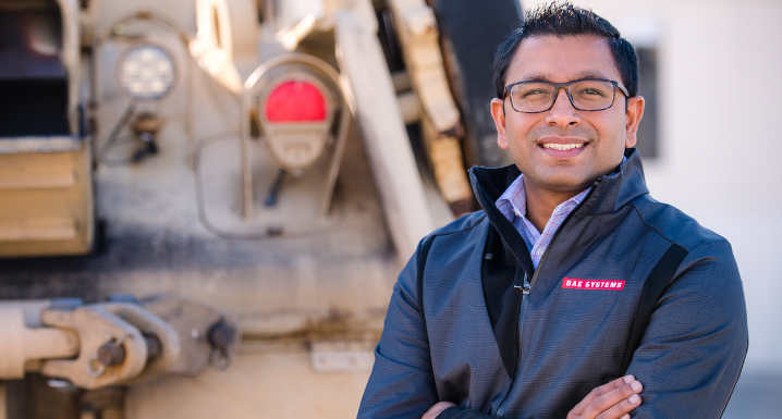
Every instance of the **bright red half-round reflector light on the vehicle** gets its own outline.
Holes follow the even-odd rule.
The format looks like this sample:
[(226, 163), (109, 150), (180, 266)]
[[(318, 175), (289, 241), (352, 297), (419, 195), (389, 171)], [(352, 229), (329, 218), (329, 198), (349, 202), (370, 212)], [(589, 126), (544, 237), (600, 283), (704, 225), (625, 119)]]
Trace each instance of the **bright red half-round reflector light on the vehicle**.
[(313, 84), (285, 82), (278, 85), (266, 102), (269, 122), (326, 120), (326, 99)]

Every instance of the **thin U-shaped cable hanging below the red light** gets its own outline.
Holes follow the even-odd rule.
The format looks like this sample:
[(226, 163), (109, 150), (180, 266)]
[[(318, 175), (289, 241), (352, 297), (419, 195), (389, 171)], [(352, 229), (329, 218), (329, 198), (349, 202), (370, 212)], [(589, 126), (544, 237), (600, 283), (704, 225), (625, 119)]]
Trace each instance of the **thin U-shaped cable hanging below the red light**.
[[(232, 139), (228, 137), (231, 136), (239, 136), (239, 133), (236, 132), (227, 132), (227, 133), (220, 133), (210, 135), (204, 139), (201, 139), (194, 150), (195, 153), (195, 188), (196, 188), (196, 204), (198, 208), (198, 221), (200, 221), (204, 229), (206, 229), (209, 233), (215, 234), (218, 237), (221, 238), (228, 238), (228, 239), (237, 239), (237, 241), (262, 241), (262, 239), (269, 239), (269, 238), (303, 238), (303, 237), (311, 237), (316, 235), (321, 235), (328, 232), (331, 232), (333, 230), (337, 230), (339, 226), (342, 225), (342, 223), (345, 221), (345, 208), (343, 205), (341, 205), (340, 199), (333, 199), (332, 202), (334, 202), (334, 208), (337, 209), (337, 221), (328, 226), (321, 227), (321, 229), (315, 229), (307, 232), (274, 232), (274, 231), (264, 231), (264, 232), (248, 232), (248, 233), (241, 233), (241, 232), (228, 232), (218, 229), (217, 226), (212, 225), (209, 220), (206, 217), (206, 205), (204, 200), (204, 183), (201, 180), (201, 172), (200, 172), (200, 153), (201, 151), (213, 144), (217, 144), (219, 141), (223, 141), (227, 139)], [(334, 196), (337, 197), (338, 194), (341, 194), (340, 188), (334, 188)]]

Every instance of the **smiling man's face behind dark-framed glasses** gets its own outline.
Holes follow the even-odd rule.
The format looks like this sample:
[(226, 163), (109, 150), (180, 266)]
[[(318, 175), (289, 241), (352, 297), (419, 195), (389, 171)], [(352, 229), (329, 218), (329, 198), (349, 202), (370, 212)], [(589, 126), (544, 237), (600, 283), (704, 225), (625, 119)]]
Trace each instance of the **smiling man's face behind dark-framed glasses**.
[[(506, 74), (505, 85), (582, 78), (622, 83), (606, 39), (590, 35), (524, 39)], [(631, 98), (625, 112), (625, 98), (616, 89), (611, 108), (578, 111), (565, 89), (560, 89), (553, 108), (546, 112), (516, 112), (508, 96), (492, 100), (491, 112), (498, 144), (510, 150), (525, 183), (552, 193), (572, 193), (611, 172), (622, 162), (624, 148), (635, 146), (644, 98)], [(561, 150), (573, 145), (576, 148)]]

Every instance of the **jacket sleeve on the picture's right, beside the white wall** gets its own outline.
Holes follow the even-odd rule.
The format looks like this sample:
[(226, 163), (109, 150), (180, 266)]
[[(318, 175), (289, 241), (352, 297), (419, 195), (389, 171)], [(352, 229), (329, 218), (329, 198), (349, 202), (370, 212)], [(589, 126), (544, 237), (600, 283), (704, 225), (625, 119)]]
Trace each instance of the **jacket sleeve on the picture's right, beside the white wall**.
[(644, 384), (633, 418), (719, 418), (747, 352), (742, 280), (730, 244), (694, 248), (658, 301), (627, 369)]

